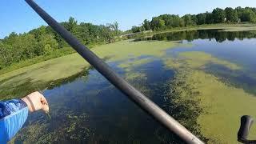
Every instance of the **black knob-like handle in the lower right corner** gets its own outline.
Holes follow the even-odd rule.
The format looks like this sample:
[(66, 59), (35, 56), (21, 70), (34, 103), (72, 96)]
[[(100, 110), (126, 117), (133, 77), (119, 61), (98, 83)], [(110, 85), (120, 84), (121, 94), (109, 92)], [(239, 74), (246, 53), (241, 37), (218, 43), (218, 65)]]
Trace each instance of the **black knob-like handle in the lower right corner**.
[(254, 123), (254, 119), (249, 115), (244, 115), (241, 117), (241, 125), (238, 131), (238, 142), (242, 143), (256, 143), (256, 140), (248, 140), (247, 137), (250, 132), (250, 126)]

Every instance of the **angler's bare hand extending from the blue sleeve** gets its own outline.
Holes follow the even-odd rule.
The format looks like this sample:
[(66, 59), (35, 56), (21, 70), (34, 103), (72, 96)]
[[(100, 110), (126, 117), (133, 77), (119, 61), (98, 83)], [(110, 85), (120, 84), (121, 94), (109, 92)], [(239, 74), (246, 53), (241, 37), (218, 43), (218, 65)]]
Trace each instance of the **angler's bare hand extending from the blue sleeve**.
[(26, 102), (26, 105), (30, 112), (34, 112), (36, 110), (44, 110), (46, 112), (49, 111), (49, 106), (46, 98), (38, 91), (22, 98), (22, 101)]

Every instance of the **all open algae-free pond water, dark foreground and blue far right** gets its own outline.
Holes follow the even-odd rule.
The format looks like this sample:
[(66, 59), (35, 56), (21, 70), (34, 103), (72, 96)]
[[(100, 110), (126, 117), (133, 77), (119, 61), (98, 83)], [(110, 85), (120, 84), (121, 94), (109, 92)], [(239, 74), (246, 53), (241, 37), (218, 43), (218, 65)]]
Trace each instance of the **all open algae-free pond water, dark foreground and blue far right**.
[[(256, 32), (225, 32), (221, 30), (192, 30), (155, 34), (138, 41), (180, 41), (184, 46), (166, 50), (166, 57), (175, 58), (182, 52), (202, 51), (213, 57), (242, 66), (242, 70), (229, 70), (225, 66), (209, 63), (204, 67), (221, 81), (256, 94)], [(189, 45), (189, 47), (188, 47)], [(129, 71), (120, 68), (120, 62), (108, 64), (126, 78), (127, 74), (141, 74), (138, 78), (126, 78), (164, 110), (166, 83), (175, 78), (175, 70), (166, 68), (162, 58), (150, 58), (150, 62), (131, 66)], [(137, 60), (138, 60), (137, 59)], [(133, 62), (134, 59), (130, 59)], [(181, 143), (182, 141), (140, 110), (130, 99), (114, 88), (96, 70), (90, 69), (78, 78), (67, 80), (43, 94), (50, 104), (50, 116), (38, 112), (30, 114), (15, 143)], [(169, 107), (170, 107), (169, 106)], [(168, 106), (167, 106), (168, 107)], [(171, 115), (178, 111), (167, 110)], [(202, 134), (203, 135), (203, 134)]]

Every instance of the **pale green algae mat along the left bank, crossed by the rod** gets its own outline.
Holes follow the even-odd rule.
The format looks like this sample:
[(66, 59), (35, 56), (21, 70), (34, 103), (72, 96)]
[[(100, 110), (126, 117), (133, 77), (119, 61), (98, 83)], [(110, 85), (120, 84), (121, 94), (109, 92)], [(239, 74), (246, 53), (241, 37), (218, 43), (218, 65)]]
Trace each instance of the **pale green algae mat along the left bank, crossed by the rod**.
[[(101, 58), (106, 58), (108, 62), (118, 62), (141, 55), (161, 57), (165, 50), (174, 46), (178, 46), (178, 43), (124, 41), (97, 46), (92, 50)], [(65, 80), (88, 69), (90, 64), (75, 53), (2, 74), (0, 99), (22, 97), (33, 90), (45, 89), (51, 83)]]

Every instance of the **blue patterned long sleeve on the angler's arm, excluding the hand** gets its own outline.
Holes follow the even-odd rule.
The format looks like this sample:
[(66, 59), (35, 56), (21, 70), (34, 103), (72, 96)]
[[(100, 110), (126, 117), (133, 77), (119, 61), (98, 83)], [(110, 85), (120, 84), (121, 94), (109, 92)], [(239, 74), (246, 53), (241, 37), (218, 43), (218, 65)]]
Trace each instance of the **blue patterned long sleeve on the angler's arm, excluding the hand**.
[(0, 143), (6, 143), (22, 128), (28, 115), (21, 99), (0, 102)]

